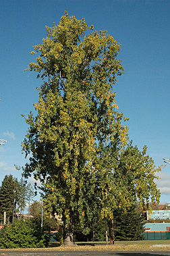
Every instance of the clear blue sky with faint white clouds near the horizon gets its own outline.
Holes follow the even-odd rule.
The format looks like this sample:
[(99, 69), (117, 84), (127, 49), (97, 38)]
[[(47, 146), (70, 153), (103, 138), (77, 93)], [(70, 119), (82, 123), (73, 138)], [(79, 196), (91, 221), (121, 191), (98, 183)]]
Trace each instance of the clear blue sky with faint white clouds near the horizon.
[[(14, 163), (24, 165), (21, 142), (28, 115), (38, 101), (36, 74), (24, 72), (33, 60), (32, 45), (46, 36), (45, 26), (70, 16), (85, 18), (96, 30), (108, 30), (121, 42), (125, 74), (113, 90), (119, 110), (129, 117), (130, 139), (155, 165), (170, 158), (170, 1), (169, 0), (0, 0), (0, 184), (5, 174), (20, 179)], [(161, 202), (170, 202), (170, 165), (159, 174)], [(29, 180), (32, 182), (32, 179)]]

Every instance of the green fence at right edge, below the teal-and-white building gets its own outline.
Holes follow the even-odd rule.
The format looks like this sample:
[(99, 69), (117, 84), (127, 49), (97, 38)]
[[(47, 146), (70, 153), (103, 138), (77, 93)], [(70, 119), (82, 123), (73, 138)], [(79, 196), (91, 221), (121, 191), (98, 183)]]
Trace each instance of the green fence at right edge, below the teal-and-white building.
[(170, 239), (169, 231), (145, 231), (145, 240), (168, 240)]

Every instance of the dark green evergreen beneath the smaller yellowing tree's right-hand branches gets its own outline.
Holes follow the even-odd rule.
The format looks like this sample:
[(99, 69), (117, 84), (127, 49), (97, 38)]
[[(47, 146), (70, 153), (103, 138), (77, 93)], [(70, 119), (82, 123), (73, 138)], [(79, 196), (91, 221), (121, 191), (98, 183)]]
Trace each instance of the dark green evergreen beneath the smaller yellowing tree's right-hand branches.
[(124, 212), (117, 210), (114, 213), (115, 240), (143, 240), (144, 222), (141, 213), (132, 207)]

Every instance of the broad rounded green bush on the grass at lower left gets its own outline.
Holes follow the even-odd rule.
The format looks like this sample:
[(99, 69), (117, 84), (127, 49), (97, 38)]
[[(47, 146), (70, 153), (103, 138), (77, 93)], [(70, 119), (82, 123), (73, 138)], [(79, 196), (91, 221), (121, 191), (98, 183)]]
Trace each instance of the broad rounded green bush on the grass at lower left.
[(48, 243), (48, 234), (34, 219), (16, 220), (0, 230), (0, 248), (47, 247)]

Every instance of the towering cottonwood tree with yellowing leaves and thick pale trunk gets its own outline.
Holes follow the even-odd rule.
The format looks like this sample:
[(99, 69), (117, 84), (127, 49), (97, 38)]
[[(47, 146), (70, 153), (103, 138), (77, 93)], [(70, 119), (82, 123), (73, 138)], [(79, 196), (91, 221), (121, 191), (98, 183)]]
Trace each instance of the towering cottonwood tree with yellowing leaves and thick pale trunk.
[(123, 74), (120, 47), (65, 11), (32, 51), (40, 55), (28, 70), (38, 72), (42, 85), (36, 116), (25, 118), (22, 150), (31, 157), (24, 176), (33, 172), (42, 182), (45, 209), (62, 216), (65, 242), (72, 242), (77, 224), (87, 233), (96, 212), (112, 217), (113, 209), (131, 204), (114, 175), (128, 140), (113, 92)]

